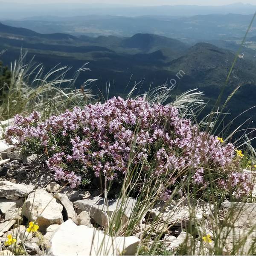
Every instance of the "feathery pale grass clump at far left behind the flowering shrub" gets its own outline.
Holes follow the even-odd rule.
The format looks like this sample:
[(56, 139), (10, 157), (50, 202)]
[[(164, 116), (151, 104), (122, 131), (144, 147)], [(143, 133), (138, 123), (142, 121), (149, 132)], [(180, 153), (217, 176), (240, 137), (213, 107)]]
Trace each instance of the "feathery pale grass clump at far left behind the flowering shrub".
[(54, 67), (44, 73), (42, 64), (34, 64), (34, 59), (27, 64), (27, 52), (20, 53), (19, 60), (11, 64), (11, 81), (6, 85), (0, 106), (0, 118), (9, 119), (17, 113), (29, 114), (38, 111), (45, 117), (52, 113), (61, 113), (74, 106), (83, 106), (94, 99), (89, 87), (95, 79), (89, 79), (75, 88), (81, 72), (89, 70), (85, 65), (76, 71), (72, 79), (65, 79), (68, 67)]

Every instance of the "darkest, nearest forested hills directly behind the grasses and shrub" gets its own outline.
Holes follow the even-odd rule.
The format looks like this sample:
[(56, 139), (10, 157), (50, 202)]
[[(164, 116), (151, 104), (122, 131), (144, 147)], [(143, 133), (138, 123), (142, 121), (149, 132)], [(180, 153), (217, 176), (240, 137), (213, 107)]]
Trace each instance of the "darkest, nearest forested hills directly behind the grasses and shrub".
[[(70, 76), (89, 62), (87, 67), (91, 71), (82, 73), (77, 87), (86, 79), (98, 79), (92, 84), (93, 92), (99, 93), (100, 90), (104, 93), (106, 84), (110, 83), (110, 96), (126, 94), (134, 84), (137, 84), (137, 93), (143, 93), (149, 87), (162, 84), (172, 86), (175, 81), (174, 96), (194, 88), (204, 91), (204, 97), (209, 101), (207, 111), (217, 99), (232, 67), (237, 51), (235, 46), (239, 47), (227, 41), (217, 40), (216, 43), (225, 47), (217, 47), (209, 42), (191, 45), (177, 39), (146, 33), (131, 37), (112, 35), (96, 38), (63, 33), (41, 34), (0, 23), (0, 51), (7, 49), (1, 55), (5, 64), (18, 58), (20, 48), (29, 51), (28, 60), (35, 55), (35, 61), (43, 63), (46, 71), (58, 65), (73, 67), (67, 74)], [(236, 87), (241, 88), (228, 105), (232, 109), (232, 115), (228, 119), (254, 105), (255, 52), (247, 47), (242, 48), (231, 73), (224, 99)], [(244, 104), (237, 108), (238, 102), (245, 95)], [(248, 111), (239, 122), (252, 115), (253, 112)]]

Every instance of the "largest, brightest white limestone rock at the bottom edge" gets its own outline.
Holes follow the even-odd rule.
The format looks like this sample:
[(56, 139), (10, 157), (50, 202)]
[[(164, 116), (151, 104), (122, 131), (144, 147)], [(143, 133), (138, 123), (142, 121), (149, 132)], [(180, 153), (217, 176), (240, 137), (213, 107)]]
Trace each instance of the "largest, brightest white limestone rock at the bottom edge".
[(139, 243), (134, 236), (111, 237), (67, 220), (53, 234), (47, 255), (135, 255)]

